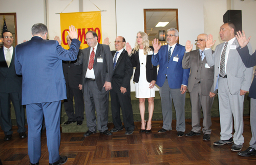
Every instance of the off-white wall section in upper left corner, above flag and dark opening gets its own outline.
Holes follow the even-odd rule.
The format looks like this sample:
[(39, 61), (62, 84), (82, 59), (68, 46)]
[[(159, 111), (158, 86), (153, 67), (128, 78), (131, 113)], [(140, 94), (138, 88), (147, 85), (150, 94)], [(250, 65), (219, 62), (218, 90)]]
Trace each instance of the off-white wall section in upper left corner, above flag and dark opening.
[(25, 39), (31, 39), (31, 27), (33, 24), (46, 23), (45, 2), (42, 0), (0, 0), (0, 12), (16, 13), (18, 44)]

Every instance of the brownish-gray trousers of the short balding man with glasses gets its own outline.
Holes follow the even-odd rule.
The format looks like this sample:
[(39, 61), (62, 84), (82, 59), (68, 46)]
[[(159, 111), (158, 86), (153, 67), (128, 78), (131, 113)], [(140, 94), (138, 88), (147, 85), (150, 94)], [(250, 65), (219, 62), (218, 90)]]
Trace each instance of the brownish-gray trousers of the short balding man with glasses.
[(211, 114), (210, 109), (212, 103), (214, 103), (214, 97), (210, 98), (209, 95), (203, 96), (201, 90), (201, 84), (195, 84), (193, 90), (189, 93), (191, 101), (191, 117), (192, 117), (192, 131), (200, 133), (200, 119), (201, 119), (201, 107), (203, 112), (203, 128), (204, 134), (211, 133)]

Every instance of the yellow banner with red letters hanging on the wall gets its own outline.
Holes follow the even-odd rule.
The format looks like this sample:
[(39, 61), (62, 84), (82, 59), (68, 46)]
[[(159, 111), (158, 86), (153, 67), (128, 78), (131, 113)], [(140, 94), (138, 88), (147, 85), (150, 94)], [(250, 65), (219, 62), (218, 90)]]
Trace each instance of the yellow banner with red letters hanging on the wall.
[(102, 43), (100, 11), (60, 14), (61, 46), (65, 49), (69, 49), (67, 31), (69, 31), (69, 26), (71, 24), (73, 24), (77, 29), (78, 40), (81, 41), (80, 49), (88, 47), (86, 42), (86, 33), (88, 31), (96, 32), (98, 35), (98, 42)]

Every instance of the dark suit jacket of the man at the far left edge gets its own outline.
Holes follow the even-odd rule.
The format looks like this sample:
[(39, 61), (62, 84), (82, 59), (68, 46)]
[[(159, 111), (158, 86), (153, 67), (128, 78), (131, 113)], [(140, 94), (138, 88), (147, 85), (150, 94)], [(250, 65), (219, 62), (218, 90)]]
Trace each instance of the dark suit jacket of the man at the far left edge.
[(17, 75), (14, 66), (15, 48), (8, 68), (5, 61), (4, 47), (0, 48), (0, 92), (22, 92), (22, 76)]

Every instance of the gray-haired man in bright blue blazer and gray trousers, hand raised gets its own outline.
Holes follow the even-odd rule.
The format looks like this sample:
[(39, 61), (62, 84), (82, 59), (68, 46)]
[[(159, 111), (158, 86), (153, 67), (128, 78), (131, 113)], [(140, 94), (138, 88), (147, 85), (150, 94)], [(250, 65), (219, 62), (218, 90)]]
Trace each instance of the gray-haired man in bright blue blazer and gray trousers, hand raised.
[(176, 111), (176, 130), (178, 137), (182, 137), (185, 131), (185, 97), (190, 69), (182, 68), (182, 59), (185, 46), (178, 44), (179, 32), (175, 28), (167, 30), (168, 45), (161, 46), (154, 39), (154, 53), (152, 64), (159, 64), (156, 84), (160, 87), (162, 102), (163, 127), (158, 133), (172, 130), (172, 100)]

